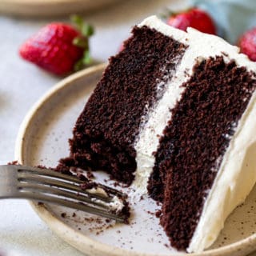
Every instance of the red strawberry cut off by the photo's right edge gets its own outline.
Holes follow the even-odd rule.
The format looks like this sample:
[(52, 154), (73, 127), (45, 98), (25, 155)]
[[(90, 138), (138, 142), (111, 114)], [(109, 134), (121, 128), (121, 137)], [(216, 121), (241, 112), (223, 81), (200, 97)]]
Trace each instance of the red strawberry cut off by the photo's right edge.
[(256, 62), (256, 27), (242, 34), (238, 46), (243, 54), (246, 54), (250, 60)]

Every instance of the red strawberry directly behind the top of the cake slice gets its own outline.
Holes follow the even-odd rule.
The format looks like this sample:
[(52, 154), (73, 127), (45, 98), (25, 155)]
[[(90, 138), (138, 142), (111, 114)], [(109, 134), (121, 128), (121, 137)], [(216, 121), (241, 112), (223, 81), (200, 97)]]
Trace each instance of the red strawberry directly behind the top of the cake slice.
[(188, 26), (191, 26), (207, 34), (216, 34), (216, 28), (210, 15), (198, 8), (192, 8), (170, 16), (167, 20), (167, 24), (184, 31), (186, 31)]

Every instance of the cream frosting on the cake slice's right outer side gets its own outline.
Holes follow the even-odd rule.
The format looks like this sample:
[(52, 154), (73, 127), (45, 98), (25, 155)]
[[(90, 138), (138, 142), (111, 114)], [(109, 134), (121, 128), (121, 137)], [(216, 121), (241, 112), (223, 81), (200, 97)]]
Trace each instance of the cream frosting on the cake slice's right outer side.
[(254, 93), (226, 150), (188, 252), (202, 251), (215, 241), (228, 215), (244, 202), (256, 182), (255, 102)]

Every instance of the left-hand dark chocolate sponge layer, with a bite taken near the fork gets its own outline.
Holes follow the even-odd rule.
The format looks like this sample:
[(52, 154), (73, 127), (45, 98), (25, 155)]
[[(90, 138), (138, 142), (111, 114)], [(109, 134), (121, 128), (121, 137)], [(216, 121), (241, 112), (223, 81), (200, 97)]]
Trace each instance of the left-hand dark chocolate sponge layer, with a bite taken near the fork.
[(147, 110), (162, 97), (186, 49), (146, 26), (132, 32), (125, 49), (110, 58), (70, 140), (75, 166), (106, 170), (127, 184), (136, 170), (134, 140), (142, 117), (145, 122)]

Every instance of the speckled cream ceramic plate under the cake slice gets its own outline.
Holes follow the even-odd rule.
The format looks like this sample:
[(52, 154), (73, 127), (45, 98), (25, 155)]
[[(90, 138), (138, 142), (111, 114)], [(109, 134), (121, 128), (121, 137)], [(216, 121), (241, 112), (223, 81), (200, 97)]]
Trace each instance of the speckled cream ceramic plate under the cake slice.
[[(35, 104), (18, 135), (18, 162), (30, 166), (56, 166), (59, 158), (69, 154), (68, 138), (71, 138), (72, 127), (100, 79), (104, 66), (95, 66), (64, 79)], [(97, 179), (104, 182), (106, 174), (98, 172)], [(111, 186), (112, 182), (106, 184)], [(129, 190), (122, 190), (129, 193)], [(106, 219), (60, 206), (38, 206), (36, 203), (32, 206), (51, 230), (88, 255), (183, 255), (170, 248), (162, 227), (158, 225), (158, 218), (154, 216), (158, 206), (148, 198), (131, 205), (130, 225), (106, 222)], [(254, 188), (246, 202), (230, 215), (214, 246), (202, 254), (191, 255), (248, 254), (256, 248), (255, 230)]]

